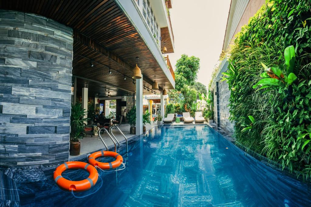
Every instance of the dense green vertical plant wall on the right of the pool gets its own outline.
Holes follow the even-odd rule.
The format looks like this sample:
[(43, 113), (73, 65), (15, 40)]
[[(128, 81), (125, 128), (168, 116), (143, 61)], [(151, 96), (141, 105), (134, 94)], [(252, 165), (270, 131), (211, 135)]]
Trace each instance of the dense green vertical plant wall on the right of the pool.
[[(311, 176), (310, 4), (309, 0), (266, 1), (237, 34), (224, 74), (231, 90), (230, 120), (235, 121), (237, 143), (307, 179)], [(285, 74), (284, 50), (290, 45), (295, 48), (297, 79), (285, 87), (253, 88), (263, 78), (262, 64), (268, 69), (277, 66)]]

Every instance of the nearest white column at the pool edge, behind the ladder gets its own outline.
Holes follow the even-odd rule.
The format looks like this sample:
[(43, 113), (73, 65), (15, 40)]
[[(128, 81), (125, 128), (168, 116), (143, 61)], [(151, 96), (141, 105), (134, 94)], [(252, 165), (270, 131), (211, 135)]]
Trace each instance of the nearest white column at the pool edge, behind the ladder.
[(136, 79), (136, 135), (142, 134), (142, 78)]

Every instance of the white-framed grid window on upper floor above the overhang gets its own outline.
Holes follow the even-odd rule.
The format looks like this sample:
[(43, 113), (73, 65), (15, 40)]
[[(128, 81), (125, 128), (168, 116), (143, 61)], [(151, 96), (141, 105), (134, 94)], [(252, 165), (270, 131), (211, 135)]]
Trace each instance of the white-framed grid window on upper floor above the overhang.
[(156, 17), (154, 15), (154, 12), (151, 8), (149, 0), (142, 0), (142, 15), (144, 16), (147, 25), (151, 31), (152, 36), (155, 38), (158, 45), (160, 45), (159, 40), (159, 26), (156, 21)]

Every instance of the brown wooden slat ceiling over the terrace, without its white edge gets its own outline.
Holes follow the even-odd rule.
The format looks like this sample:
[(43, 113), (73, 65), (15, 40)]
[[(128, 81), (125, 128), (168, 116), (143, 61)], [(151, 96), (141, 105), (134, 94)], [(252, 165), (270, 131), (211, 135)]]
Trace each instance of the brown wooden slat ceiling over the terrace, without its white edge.
[[(156, 75), (160, 89), (164, 85), (166, 89), (173, 89), (137, 30), (113, 0), (10, 0), (0, 1), (0, 8), (35, 13), (56, 20), (93, 39), (132, 67), (135, 66), (138, 56), (138, 66), (145, 79), (148, 79), (143, 84), (151, 88), (150, 82)], [(95, 67), (91, 67), (90, 61), (79, 55), (109, 65), (113, 70), (112, 74), (107, 75), (108, 69), (99, 64), (95, 63)], [(135, 92), (136, 87), (132, 84), (132, 80), (124, 81), (121, 75), (131, 77), (132, 73), (128, 68), (86, 47), (76, 39), (74, 39), (72, 66), (73, 75), (117, 85)], [(144, 93), (150, 92), (144, 91)]]

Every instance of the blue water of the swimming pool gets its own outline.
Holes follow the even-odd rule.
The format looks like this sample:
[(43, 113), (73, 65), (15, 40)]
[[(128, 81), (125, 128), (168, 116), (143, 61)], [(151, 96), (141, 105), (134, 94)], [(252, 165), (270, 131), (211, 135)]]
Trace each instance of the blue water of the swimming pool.
[[(124, 145), (120, 154), (124, 154)], [(22, 206), (309, 206), (310, 186), (255, 160), (214, 129), (153, 129), (129, 145), (126, 169), (103, 173), (89, 191), (44, 182), (19, 184)], [(108, 160), (108, 159), (104, 159)], [(84, 160), (86, 161), (86, 160)], [(85, 179), (83, 170), (63, 176)]]

